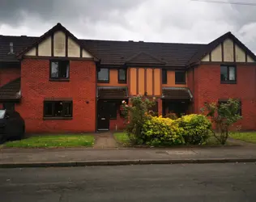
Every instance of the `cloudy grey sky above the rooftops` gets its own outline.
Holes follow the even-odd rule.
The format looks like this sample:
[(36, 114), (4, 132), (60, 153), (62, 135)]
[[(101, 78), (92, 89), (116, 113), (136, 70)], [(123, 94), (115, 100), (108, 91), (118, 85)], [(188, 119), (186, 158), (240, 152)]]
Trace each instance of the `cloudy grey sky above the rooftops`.
[(256, 53), (256, 6), (192, 0), (0, 0), (0, 35), (41, 36), (57, 23), (79, 39), (96, 40), (208, 44), (233, 32)]

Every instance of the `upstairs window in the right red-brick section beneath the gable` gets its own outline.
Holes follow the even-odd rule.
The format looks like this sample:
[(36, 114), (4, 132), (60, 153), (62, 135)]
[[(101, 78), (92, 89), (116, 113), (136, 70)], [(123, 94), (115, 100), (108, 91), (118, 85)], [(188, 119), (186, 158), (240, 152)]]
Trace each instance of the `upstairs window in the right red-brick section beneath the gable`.
[(235, 83), (237, 81), (237, 68), (235, 66), (220, 66), (220, 82)]

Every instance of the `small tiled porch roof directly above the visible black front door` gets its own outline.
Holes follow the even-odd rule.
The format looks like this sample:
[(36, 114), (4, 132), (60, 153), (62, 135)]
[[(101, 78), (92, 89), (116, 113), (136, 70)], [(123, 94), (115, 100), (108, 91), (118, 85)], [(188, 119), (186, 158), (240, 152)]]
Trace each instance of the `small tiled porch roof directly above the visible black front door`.
[(127, 87), (124, 86), (98, 86), (98, 99), (126, 99), (128, 97)]

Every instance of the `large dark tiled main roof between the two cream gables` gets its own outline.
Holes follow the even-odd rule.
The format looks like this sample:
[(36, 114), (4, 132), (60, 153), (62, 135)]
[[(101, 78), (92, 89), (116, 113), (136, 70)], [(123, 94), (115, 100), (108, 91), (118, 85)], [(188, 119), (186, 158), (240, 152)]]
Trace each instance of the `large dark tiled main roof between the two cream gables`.
[(175, 44), (113, 40), (81, 40), (100, 58), (102, 65), (124, 65), (139, 53), (153, 56), (167, 66), (185, 66), (190, 58), (205, 44)]

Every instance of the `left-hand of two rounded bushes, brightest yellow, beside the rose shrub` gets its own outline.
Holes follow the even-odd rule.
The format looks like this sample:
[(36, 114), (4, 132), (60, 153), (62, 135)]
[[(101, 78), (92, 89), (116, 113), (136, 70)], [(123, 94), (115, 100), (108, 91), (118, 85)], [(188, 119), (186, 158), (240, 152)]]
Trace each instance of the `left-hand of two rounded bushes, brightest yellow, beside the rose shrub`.
[(148, 116), (143, 124), (141, 138), (146, 145), (182, 145), (182, 133), (183, 129), (179, 128), (174, 120), (162, 116)]

